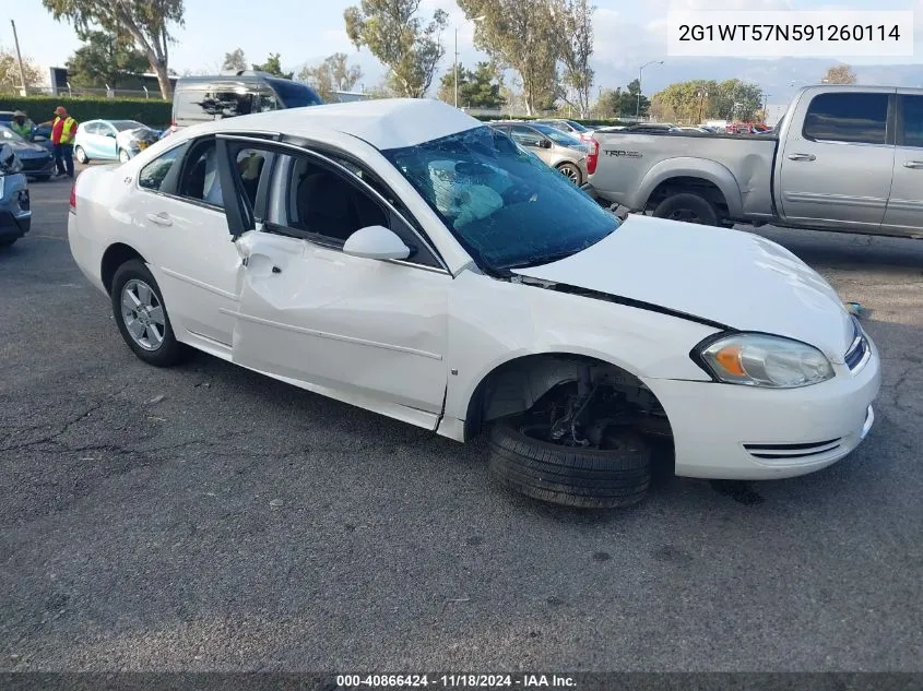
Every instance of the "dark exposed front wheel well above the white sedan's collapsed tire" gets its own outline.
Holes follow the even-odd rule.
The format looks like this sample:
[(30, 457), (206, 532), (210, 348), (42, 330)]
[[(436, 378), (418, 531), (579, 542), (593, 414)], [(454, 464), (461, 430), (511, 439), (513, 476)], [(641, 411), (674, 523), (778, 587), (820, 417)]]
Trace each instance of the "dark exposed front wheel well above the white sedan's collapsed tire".
[(625, 414), (642, 431), (672, 436), (660, 401), (635, 374), (591, 357), (542, 354), (505, 362), (481, 381), (468, 404), (464, 437), (473, 439), (492, 420), (553, 402), (557, 392), (564, 395), (581, 380), (606, 391), (612, 414)]

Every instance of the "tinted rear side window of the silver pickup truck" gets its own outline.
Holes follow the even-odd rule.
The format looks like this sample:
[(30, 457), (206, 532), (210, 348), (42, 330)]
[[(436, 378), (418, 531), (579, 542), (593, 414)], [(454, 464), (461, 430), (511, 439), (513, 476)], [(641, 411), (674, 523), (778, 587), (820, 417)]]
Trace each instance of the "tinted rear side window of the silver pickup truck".
[(820, 94), (804, 119), (805, 139), (853, 144), (887, 143), (887, 94)]

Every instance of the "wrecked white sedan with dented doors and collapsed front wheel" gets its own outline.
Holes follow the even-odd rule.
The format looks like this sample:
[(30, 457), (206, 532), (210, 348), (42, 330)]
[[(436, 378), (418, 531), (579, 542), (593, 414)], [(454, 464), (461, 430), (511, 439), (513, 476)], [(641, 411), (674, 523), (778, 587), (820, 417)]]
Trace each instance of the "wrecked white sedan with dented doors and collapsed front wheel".
[(624, 223), (433, 100), (182, 130), (76, 181), (78, 265), (156, 366), (189, 347), (458, 441), (507, 486), (638, 501), (675, 473), (791, 477), (872, 426), (876, 348), (760, 237)]

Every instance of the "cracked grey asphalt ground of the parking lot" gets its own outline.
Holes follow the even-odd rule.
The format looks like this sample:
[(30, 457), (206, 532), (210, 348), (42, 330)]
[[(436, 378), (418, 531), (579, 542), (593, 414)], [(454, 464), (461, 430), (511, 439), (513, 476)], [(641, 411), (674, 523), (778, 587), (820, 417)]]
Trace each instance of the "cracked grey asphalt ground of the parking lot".
[(873, 310), (853, 455), (581, 513), (495, 487), (483, 440), (143, 365), (71, 259), (69, 183), (31, 188), (0, 251), (0, 669), (923, 670), (923, 242), (765, 233)]

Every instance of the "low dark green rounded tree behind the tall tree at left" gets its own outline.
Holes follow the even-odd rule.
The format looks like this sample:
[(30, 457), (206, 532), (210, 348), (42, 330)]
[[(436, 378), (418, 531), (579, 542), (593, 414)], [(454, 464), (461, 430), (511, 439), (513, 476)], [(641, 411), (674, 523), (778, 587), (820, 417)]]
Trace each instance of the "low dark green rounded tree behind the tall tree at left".
[(68, 81), (79, 86), (117, 88), (126, 76), (149, 69), (147, 58), (127, 36), (109, 36), (106, 32), (82, 32), (83, 46), (68, 60)]

